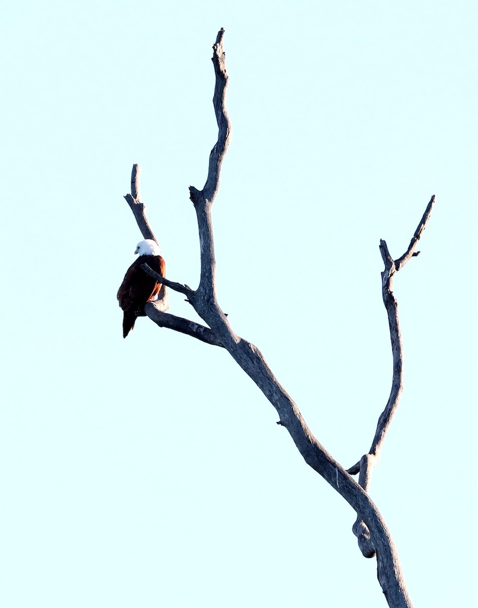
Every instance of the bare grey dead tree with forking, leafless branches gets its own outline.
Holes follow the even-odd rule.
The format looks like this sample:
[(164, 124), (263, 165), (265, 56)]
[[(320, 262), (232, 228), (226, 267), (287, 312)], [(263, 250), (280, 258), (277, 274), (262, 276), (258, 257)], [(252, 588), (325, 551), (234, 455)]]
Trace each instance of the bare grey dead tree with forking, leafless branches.
[[(378, 580), (389, 606), (410, 608), (412, 603), (406, 590), (397, 550), (383, 517), (370, 499), (367, 491), (372, 469), (378, 461), (384, 437), (393, 413), (397, 409), (403, 389), (403, 348), (398, 322), (397, 299), (395, 299), (392, 291), (393, 277), (410, 258), (420, 253), (416, 250), (417, 243), (431, 215), (435, 197), (432, 196), (406, 252), (400, 258), (394, 260), (390, 255), (387, 243), (383, 240), (380, 241), (379, 249), (384, 261), (382, 294), (389, 318), (393, 354), (392, 390), (387, 405), (379, 416), (375, 437), (373, 437), (369, 452), (346, 470), (328, 454), (314, 437), (305, 420), (303, 420), (296, 403), (279, 384), (260, 350), (234, 332), (216, 298), (216, 262), (211, 212), (213, 201), (218, 192), (221, 165), (229, 145), (231, 133), (226, 111), (226, 88), (229, 77), (226, 72), (223, 37), (224, 30), (221, 29), (213, 45), (212, 57), (216, 77), (213, 106), (219, 129), (218, 140), (209, 156), (209, 171), (203, 190), (197, 190), (193, 186), (189, 188), (190, 199), (193, 202), (198, 219), (201, 247), (199, 286), (198, 289), (194, 290), (187, 285), (162, 278), (145, 264), (144, 271), (163, 284), (162, 291), (159, 294), (160, 299), (148, 303), (145, 306), (145, 313), (160, 327), (167, 327), (188, 334), (198, 340), (207, 342), (207, 344), (222, 347), (229, 352), (275, 407), (280, 419), (277, 424), (288, 430), (306, 463), (322, 475), (332, 488), (339, 492), (356, 511), (357, 520), (353, 525), (353, 532), (358, 537), (362, 554), (367, 558), (376, 556)], [(133, 167), (131, 194), (126, 195), (125, 198), (130, 204), (131, 210), (133, 210), (143, 237), (156, 240), (145, 216), (144, 206), (140, 201), (138, 165)], [(206, 325), (167, 313), (167, 288), (184, 294), (187, 302), (193, 306)], [(358, 483), (352, 477), (356, 474), (359, 475)]]

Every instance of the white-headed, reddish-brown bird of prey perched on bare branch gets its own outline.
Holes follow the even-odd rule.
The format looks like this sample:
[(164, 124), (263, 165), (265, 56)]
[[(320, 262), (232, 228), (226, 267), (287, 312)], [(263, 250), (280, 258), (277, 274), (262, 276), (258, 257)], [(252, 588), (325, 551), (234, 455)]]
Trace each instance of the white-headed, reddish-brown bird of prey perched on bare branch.
[(156, 241), (148, 238), (137, 244), (135, 254), (139, 254), (118, 289), (117, 299), (123, 309), (123, 338), (133, 329), (137, 317), (145, 317), (144, 307), (154, 300), (161, 290), (161, 283), (146, 274), (141, 268), (142, 264), (158, 272), (162, 277), (166, 275), (166, 263), (162, 257), (161, 247)]

